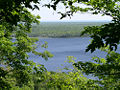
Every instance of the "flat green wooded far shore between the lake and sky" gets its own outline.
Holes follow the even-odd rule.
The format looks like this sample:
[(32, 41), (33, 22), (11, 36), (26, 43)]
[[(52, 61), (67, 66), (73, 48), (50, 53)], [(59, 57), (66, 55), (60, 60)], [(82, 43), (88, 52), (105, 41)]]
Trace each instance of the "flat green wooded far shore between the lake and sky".
[(106, 22), (41, 22), (33, 25), (31, 37), (80, 37), (86, 26), (98, 26)]

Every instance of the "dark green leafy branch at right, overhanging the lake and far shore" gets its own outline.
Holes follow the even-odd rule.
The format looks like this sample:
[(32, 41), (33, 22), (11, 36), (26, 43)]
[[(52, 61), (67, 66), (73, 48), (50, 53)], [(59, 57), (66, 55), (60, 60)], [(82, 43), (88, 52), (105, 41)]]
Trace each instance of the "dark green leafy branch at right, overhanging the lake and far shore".
[(88, 34), (92, 38), (91, 44), (86, 51), (100, 49), (109, 45), (110, 50), (116, 50), (120, 41), (120, 26), (118, 22), (109, 23), (102, 26), (86, 27), (81, 35)]

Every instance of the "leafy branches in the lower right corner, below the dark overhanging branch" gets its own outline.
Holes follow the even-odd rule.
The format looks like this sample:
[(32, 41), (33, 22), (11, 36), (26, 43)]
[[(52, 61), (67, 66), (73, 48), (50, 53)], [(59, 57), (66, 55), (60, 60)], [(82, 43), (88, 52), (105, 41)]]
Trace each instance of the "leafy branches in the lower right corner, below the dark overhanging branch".
[[(82, 70), (86, 74), (92, 74), (97, 76), (99, 80), (95, 80), (100, 85), (109, 88), (119, 88), (119, 84), (116, 82), (119, 81), (120, 74), (120, 54), (115, 52), (110, 52), (106, 58), (94, 57), (94, 62), (85, 62), (79, 61), (74, 65), (78, 69)], [(114, 84), (114, 85), (112, 85)]]

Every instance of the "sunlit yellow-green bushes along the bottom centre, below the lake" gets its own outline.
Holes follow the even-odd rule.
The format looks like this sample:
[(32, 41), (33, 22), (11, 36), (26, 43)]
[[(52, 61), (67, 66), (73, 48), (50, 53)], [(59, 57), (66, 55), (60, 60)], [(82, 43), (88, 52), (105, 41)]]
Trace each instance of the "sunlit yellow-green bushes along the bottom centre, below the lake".
[[(69, 56), (69, 62), (74, 63), (73, 57)], [(73, 66), (74, 67), (74, 66)], [(24, 90), (97, 90), (102, 89), (98, 84), (95, 84), (93, 80), (84, 77), (80, 70), (74, 67), (72, 70), (65, 68), (66, 72), (48, 72), (44, 71), (42, 74), (32, 74), (33, 87), (24, 86), (22, 88), (13, 87), (12, 89)], [(68, 71), (68, 72), (67, 72)]]

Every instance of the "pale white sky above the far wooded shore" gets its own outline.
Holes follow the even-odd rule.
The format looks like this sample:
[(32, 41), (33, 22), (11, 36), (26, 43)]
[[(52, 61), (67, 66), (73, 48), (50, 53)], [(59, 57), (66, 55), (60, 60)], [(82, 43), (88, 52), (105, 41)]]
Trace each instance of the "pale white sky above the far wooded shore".
[[(62, 10), (62, 6), (60, 6), (59, 10)], [(34, 15), (40, 15), (40, 21), (111, 21), (112, 18), (109, 16), (101, 16), (99, 15), (92, 15), (89, 13), (76, 13), (74, 14), (71, 19), (66, 17), (60, 20), (61, 15), (58, 14), (56, 11), (52, 9), (48, 9), (47, 7), (40, 7), (40, 10), (31, 11)]]

